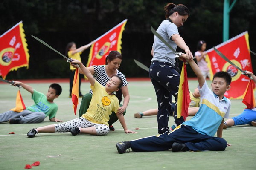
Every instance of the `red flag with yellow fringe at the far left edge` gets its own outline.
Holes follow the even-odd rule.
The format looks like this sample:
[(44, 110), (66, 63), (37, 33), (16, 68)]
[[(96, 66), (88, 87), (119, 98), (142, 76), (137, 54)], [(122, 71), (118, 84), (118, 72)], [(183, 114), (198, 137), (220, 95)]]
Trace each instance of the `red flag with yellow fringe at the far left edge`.
[(0, 36), (0, 76), (3, 79), (13, 70), (20, 67), (29, 67), (29, 53), (20, 21)]

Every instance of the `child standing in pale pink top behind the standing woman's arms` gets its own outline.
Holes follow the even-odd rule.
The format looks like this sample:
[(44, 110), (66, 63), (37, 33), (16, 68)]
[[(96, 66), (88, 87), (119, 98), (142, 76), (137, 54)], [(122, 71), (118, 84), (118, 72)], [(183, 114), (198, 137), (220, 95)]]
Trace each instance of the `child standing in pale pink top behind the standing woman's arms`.
[(196, 58), (199, 68), (201, 69), (204, 79), (206, 79), (207, 77), (210, 78), (209, 68), (207, 67), (207, 62), (205, 61), (206, 54), (207, 54), (205, 52), (205, 49), (206, 49), (205, 41), (200, 40), (197, 45), (198, 51), (195, 52), (195, 58)]

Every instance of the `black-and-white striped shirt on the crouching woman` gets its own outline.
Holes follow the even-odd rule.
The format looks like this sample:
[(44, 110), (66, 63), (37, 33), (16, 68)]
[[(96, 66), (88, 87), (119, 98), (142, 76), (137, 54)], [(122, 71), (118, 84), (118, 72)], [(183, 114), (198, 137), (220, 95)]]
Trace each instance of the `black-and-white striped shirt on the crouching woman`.
[[(110, 79), (106, 73), (106, 69), (105, 69), (105, 65), (100, 65), (100, 66), (93, 66), (94, 67), (94, 74), (93, 74), (93, 78), (96, 79), (96, 81), (98, 81), (102, 86), (106, 86), (108, 80)], [(127, 86), (128, 82), (126, 81), (125, 75), (122, 74), (122, 72), (119, 72), (117, 70), (117, 74), (123, 81), (123, 85)], [(93, 94), (92, 89), (90, 89), (89, 91), (90, 94)]]

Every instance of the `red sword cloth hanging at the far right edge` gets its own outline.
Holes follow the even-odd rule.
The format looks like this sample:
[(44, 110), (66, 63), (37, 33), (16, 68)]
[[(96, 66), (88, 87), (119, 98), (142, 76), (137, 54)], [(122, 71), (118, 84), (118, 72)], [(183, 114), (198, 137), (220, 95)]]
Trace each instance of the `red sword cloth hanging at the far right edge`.
[(255, 84), (253, 80), (250, 80), (244, 92), (243, 101), (242, 101), (247, 106), (247, 109), (252, 109), (256, 107), (255, 97), (254, 97), (254, 88), (255, 88)]

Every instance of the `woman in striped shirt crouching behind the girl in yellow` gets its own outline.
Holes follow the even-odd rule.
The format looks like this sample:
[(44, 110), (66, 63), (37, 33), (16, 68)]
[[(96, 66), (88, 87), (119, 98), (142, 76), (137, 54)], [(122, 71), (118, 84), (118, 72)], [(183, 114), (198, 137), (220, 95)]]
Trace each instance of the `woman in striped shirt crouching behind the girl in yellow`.
[[(125, 75), (122, 74), (122, 72), (119, 72), (118, 68), (122, 62), (122, 55), (118, 51), (111, 51), (109, 55), (106, 58), (106, 65), (100, 65), (100, 66), (90, 66), (88, 67), (89, 71), (93, 75), (93, 77), (98, 81), (102, 86), (105, 86), (108, 80), (111, 78), (112, 75), (118, 75), (122, 78), (123, 85), (122, 85), (122, 95), (124, 97), (123, 104), (120, 104), (120, 108), (118, 109), (118, 112), (112, 112), (111, 115), (109, 115), (109, 128), (110, 130), (115, 130), (112, 126), (113, 123), (115, 123), (118, 118), (116, 117), (116, 114), (123, 114), (126, 113), (126, 107), (128, 106), (128, 103), (130, 101), (130, 95), (128, 91)], [(81, 69), (79, 69), (79, 73), (83, 74), (81, 72)], [(83, 96), (80, 109), (79, 109), (79, 117), (86, 113), (90, 101), (92, 98), (93, 91), (90, 89), (89, 93)]]

